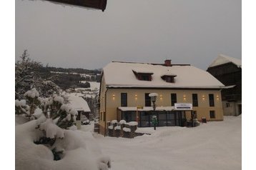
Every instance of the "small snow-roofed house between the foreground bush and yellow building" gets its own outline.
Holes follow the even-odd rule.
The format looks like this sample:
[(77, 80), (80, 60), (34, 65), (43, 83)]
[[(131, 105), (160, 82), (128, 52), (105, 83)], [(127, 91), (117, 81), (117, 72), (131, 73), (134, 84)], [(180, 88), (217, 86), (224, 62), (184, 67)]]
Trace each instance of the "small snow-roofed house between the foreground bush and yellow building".
[(85, 101), (82, 96), (77, 96), (77, 94), (69, 94), (69, 105), (76, 109), (78, 112), (77, 115), (77, 128), (81, 128), (81, 121), (83, 116), (86, 116), (87, 119), (89, 119), (89, 116), (91, 114), (91, 110), (89, 109), (89, 106), (87, 104), (87, 101)]

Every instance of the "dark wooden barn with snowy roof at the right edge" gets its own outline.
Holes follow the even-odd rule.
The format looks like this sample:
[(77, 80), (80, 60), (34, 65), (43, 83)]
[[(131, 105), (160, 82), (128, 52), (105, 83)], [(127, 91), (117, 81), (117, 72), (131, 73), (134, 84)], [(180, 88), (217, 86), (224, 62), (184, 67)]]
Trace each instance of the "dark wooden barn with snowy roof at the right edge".
[(223, 114), (242, 114), (242, 60), (220, 54), (207, 71), (229, 89), (222, 89)]

